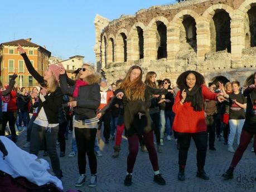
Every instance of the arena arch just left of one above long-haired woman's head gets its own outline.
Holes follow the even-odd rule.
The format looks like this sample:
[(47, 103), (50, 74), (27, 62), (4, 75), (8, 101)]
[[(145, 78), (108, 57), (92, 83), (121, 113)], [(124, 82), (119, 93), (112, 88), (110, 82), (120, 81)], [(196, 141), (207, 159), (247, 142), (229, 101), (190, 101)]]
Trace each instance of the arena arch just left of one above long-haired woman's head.
[(117, 62), (127, 61), (127, 37), (128, 32), (126, 29), (119, 29), (115, 36), (115, 60)]

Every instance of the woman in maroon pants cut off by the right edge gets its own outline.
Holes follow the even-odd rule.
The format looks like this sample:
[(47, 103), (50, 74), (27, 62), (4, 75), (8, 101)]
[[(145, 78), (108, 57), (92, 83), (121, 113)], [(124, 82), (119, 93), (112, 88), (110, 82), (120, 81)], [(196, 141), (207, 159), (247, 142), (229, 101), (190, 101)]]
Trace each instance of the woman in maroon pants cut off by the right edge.
[(244, 151), (254, 136), (254, 152), (256, 154), (256, 72), (250, 76), (248, 87), (244, 90), (243, 95), (247, 97), (246, 117), (241, 131), (240, 142), (235, 151), (229, 169), (222, 175), (224, 179), (233, 179), (235, 166), (241, 160)]

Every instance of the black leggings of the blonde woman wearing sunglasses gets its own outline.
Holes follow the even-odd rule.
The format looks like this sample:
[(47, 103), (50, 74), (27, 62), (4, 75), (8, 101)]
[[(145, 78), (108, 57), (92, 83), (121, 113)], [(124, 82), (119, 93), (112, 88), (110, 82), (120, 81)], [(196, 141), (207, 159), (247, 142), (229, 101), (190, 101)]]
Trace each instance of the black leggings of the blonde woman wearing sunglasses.
[(97, 129), (75, 127), (75, 139), (78, 146), (78, 169), (79, 174), (85, 174), (86, 154), (89, 160), (91, 174), (97, 173), (97, 159), (94, 154), (94, 142)]

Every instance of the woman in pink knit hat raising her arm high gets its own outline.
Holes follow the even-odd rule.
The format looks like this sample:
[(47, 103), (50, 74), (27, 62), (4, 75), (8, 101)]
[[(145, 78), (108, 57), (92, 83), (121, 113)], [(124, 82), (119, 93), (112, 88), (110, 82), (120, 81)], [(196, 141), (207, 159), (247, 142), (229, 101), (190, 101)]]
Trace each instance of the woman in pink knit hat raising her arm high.
[(62, 93), (59, 87), (60, 67), (58, 65), (49, 65), (43, 77), (32, 66), (25, 50), (20, 45), (18, 45), (18, 51), (20, 51), (26, 63), (28, 72), (30, 72), (42, 87), (38, 96), (38, 113), (33, 122), (31, 132), (30, 153), (34, 155), (38, 154), (45, 137), (52, 169), (54, 174), (58, 178), (61, 178), (60, 160), (56, 151), (56, 140), (59, 131), (58, 113), (62, 105)]

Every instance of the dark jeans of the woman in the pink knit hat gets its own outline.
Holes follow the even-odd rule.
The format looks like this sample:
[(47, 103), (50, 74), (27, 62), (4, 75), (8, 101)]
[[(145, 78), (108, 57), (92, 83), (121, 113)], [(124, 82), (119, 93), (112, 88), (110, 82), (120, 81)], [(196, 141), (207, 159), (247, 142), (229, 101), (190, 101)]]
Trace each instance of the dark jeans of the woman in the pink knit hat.
[(31, 142), (30, 142), (30, 153), (38, 155), (38, 151), (42, 146), (44, 138), (46, 140), (46, 147), (49, 157), (51, 159), (52, 170), (55, 175), (60, 174), (60, 160), (56, 150), (56, 141), (58, 137), (59, 125), (56, 127), (51, 127), (49, 131), (45, 131), (46, 127), (33, 124), (31, 132)]

